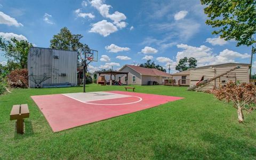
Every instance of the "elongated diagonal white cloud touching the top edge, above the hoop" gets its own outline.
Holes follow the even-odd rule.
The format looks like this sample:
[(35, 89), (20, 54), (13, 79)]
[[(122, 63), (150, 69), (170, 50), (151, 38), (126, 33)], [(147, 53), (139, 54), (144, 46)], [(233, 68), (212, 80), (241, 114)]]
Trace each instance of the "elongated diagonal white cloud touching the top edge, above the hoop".
[(90, 3), (93, 7), (95, 7), (95, 9), (97, 9), (100, 12), (102, 17), (113, 20), (113, 23), (119, 28), (126, 27), (127, 23), (123, 21), (126, 19), (126, 16), (124, 15), (124, 13), (115, 11), (113, 14), (110, 14), (109, 9), (112, 6), (107, 5), (104, 2), (105, 1), (103, 0), (92, 0)]

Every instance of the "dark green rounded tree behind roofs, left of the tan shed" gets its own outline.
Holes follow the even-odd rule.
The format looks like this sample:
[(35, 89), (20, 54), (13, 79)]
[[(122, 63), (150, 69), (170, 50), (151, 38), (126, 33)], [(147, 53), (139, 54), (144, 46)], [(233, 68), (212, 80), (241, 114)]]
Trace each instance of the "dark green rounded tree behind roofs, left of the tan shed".
[(176, 70), (179, 71), (184, 71), (187, 70), (188, 68), (196, 68), (197, 66), (197, 60), (195, 58), (187, 58), (184, 57), (179, 60), (179, 64), (175, 67)]

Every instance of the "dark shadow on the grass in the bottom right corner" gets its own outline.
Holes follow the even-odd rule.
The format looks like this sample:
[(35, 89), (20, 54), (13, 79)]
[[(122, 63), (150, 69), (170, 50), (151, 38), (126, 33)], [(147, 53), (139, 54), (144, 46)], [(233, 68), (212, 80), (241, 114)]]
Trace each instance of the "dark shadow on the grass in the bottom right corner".
[(248, 140), (201, 134), (202, 142), (160, 143), (153, 147), (154, 159), (254, 159), (256, 145)]

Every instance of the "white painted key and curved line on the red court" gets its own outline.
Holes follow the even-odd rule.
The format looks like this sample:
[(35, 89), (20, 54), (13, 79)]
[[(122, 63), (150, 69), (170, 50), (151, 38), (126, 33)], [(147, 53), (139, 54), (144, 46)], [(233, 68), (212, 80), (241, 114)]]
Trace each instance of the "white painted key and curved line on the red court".
[[(100, 94), (102, 94), (102, 95), (99, 96)], [(109, 92), (67, 93), (67, 94), (62, 94), (62, 95), (65, 95), (66, 97), (69, 97), (71, 99), (77, 100), (82, 103), (87, 103), (90, 105), (104, 105), (104, 106), (130, 105), (132, 103), (138, 103), (138, 102), (142, 101), (142, 98), (137, 97), (137, 96), (118, 94), (118, 93), (109, 93)], [(85, 97), (85, 95), (87, 95), (87, 96)], [(110, 96), (106, 96), (106, 95), (110, 95)], [(96, 96), (99, 96), (99, 97), (95, 98)], [(101, 98), (101, 97), (103, 97), (103, 98)], [(119, 103), (119, 104), (116, 104), (116, 103), (115, 104), (92, 103), (93, 101), (126, 98), (126, 97), (136, 97), (139, 100), (134, 101), (134, 102), (129, 102), (129, 103)]]

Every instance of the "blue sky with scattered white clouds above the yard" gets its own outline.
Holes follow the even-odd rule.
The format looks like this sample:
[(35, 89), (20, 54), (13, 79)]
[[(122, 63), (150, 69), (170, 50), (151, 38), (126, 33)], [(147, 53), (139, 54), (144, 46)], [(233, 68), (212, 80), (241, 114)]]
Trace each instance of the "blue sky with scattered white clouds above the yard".
[[(212, 35), (200, 1), (0, 0), (0, 36), (27, 39), (49, 47), (62, 27), (82, 34), (82, 43), (99, 51), (89, 70), (121, 68), (151, 59), (175, 73), (180, 58), (194, 57), (198, 66), (250, 63), (251, 47), (236, 47)], [(0, 63), (5, 63), (0, 53)], [(256, 64), (256, 62), (254, 62)]]

